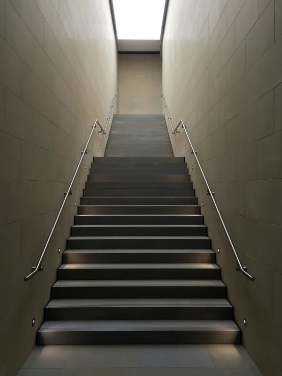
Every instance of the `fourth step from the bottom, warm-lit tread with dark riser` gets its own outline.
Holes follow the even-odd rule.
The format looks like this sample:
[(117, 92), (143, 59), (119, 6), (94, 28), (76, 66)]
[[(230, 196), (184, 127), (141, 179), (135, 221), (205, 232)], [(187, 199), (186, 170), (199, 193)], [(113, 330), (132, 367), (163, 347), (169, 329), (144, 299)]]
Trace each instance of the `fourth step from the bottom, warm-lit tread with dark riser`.
[(215, 264), (63, 264), (58, 269), (60, 280), (103, 279), (219, 279)]

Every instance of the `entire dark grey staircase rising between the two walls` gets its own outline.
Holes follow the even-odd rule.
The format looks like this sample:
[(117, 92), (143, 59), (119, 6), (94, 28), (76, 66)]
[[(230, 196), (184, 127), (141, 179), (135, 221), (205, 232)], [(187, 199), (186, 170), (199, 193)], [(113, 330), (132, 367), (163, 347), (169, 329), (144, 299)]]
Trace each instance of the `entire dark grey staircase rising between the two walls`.
[(163, 115), (115, 115), (38, 344), (240, 343), (226, 297)]

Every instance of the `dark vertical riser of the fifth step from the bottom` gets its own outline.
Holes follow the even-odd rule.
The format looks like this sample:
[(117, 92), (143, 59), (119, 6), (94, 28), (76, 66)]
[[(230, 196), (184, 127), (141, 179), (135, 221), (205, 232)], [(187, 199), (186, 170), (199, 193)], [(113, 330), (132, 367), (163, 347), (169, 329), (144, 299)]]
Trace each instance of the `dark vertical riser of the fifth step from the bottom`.
[(170, 264), (170, 263), (215, 263), (214, 253), (63, 253), (64, 264)]

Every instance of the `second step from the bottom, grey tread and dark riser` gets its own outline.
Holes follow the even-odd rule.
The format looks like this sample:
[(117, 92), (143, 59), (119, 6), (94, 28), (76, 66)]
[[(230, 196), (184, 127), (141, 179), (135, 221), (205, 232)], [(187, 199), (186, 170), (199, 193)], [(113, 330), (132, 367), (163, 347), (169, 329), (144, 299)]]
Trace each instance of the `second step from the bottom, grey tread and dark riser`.
[(52, 299), (46, 320), (232, 320), (227, 299)]

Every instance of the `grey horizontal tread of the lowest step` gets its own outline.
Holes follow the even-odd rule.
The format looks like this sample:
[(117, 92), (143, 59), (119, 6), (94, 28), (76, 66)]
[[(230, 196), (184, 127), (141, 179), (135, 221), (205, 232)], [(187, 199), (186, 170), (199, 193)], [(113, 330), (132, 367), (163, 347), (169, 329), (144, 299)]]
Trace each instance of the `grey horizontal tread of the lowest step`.
[(232, 320), (96, 320), (96, 321), (45, 321), (44, 331), (145, 331), (145, 330), (233, 330), (240, 329)]

